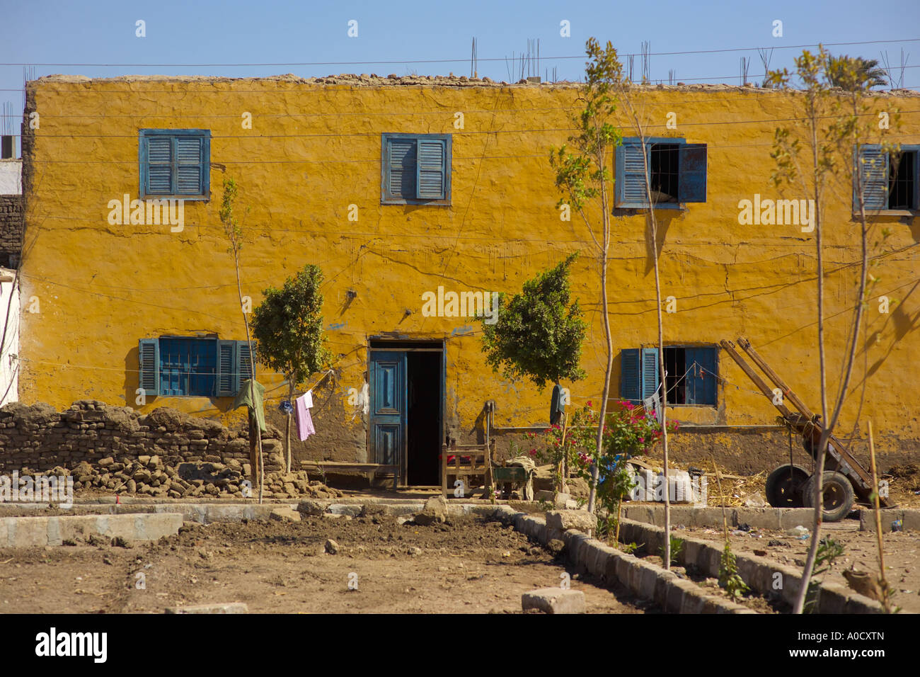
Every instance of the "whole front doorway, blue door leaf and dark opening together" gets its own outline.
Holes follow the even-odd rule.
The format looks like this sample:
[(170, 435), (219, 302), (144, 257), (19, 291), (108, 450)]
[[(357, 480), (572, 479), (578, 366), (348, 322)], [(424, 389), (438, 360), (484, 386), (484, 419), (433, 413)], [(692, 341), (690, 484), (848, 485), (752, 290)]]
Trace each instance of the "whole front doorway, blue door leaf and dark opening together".
[(399, 484), (440, 484), (442, 341), (371, 341), (368, 441), (374, 462), (399, 466)]

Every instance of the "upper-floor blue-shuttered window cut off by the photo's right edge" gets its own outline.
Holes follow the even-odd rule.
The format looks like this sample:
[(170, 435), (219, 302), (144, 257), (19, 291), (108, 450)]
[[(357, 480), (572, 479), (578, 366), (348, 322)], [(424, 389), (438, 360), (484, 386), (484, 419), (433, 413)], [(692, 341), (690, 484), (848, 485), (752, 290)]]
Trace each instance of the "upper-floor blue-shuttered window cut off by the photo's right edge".
[[(867, 211), (920, 209), (920, 146), (888, 153), (881, 146), (859, 146), (859, 174)], [(853, 211), (859, 196), (853, 187)]]

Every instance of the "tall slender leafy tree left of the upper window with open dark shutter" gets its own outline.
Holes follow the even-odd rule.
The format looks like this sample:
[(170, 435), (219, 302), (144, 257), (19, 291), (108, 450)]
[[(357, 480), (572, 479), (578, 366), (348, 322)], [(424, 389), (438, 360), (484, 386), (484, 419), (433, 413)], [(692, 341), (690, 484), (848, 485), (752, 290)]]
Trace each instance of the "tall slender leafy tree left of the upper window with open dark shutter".
[[(578, 101), (584, 105), (574, 116), (578, 134), (569, 137), (569, 143), (554, 148), (550, 153), (550, 166), (556, 171), (556, 186), (563, 194), (560, 209), (573, 209), (581, 216), (594, 243), (594, 251), (601, 274), (601, 314), (604, 320), (604, 338), (607, 343), (607, 360), (604, 368), (604, 386), (601, 390), (601, 411), (597, 426), (596, 448), (592, 467), (591, 493), (588, 509), (594, 511), (597, 494), (598, 463), (604, 451), (604, 421), (607, 398), (610, 395), (610, 375), (614, 368), (614, 341), (610, 332), (609, 304), (607, 300), (607, 265), (610, 260), (610, 216), (613, 175), (611, 164), (615, 147), (623, 143), (623, 134), (611, 123), (616, 110), (613, 88), (623, 75), (623, 66), (616, 58), (610, 42), (605, 50), (591, 38), (587, 42), (588, 62), (585, 64), (585, 84)], [(570, 145), (570, 146), (569, 146)]]

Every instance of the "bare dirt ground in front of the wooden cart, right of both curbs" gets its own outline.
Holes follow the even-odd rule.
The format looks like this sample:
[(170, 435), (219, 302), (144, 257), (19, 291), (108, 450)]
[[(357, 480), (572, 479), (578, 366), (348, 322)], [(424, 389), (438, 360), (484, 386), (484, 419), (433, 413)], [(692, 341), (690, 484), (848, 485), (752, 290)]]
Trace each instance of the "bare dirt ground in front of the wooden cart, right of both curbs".
[[(808, 526), (808, 525), (803, 525)], [(680, 527), (680, 525), (678, 525)], [(879, 571), (878, 541), (872, 531), (858, 531), (856, 520), (845, 520), (822, 526), (822, 538), (830, 537), (844, 546), (844, 554), (831, 568), (818, 577), (848, 587), (841, 573), (850, 567), (857, 571), (875, 574)], [(678, 528), (677, 538), (690, 536), (724, 543), (722, 531), (704, 528)], [(730, 531), (731, 548), (735, 554), (759, 554), (793, 568), (805, 565), (810, 541), (800, 541), (786, 531), (753, 529)], [(894, 531), (884, 533), (885, 568), (890, 588), (894, 591), (892, 602), (904, 613), (920, 613), (920, 533)], [(660, 561), (660, 558), (655, 558)], [(710, 582), (711, 585), (711, 582)], [(749, 603), (757, 611), (765, 612), (759, 602)], [(781, 609), (780, 609), (781, 610)]]

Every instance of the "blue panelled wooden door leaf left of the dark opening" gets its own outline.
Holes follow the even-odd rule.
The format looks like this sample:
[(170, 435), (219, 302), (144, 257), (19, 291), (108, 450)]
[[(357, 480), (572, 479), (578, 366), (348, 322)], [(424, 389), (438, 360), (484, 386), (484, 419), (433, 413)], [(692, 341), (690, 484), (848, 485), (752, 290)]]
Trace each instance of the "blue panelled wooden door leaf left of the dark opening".
[(371, 394), (371, 458), (375, 463), (398, 465), (406, 470), (406, 353), (372, 350), (369, 391)]

